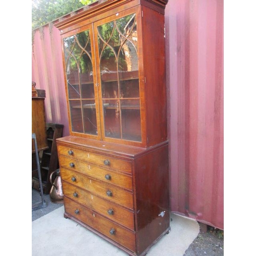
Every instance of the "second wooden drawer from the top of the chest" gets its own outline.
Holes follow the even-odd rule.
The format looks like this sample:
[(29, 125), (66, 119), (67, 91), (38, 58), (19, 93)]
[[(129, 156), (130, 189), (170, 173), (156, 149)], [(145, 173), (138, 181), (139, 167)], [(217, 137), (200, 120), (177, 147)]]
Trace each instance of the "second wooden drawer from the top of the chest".
[(96, 165), (63, 156), (59, 158), (59, 164), (62, 167), (71, 168), (76, 170), (76, 172), (89, 175), (110, 184), (115, 184), (117, 186), (133, 190), (133, 181), (131, 176), (116, 173), (106, 168), (101, 168)]

